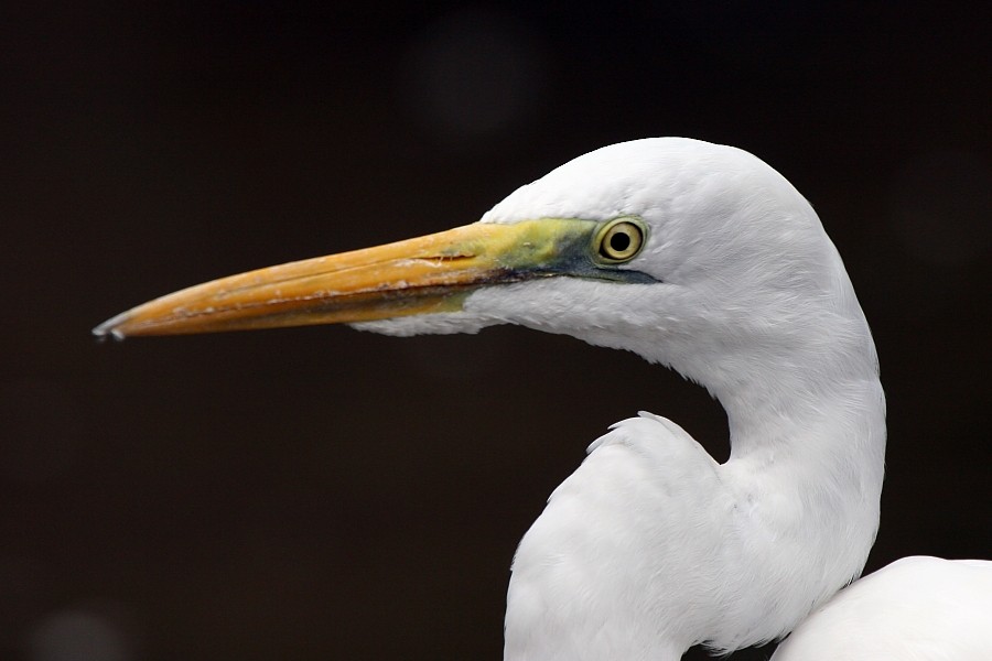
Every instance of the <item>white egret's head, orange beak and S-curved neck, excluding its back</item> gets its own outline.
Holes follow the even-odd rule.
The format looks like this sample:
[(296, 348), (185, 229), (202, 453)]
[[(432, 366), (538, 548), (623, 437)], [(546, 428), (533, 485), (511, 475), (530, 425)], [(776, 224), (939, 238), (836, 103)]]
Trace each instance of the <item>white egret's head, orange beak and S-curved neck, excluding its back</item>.
[(335, 322), (568, 334), (666, 365), (726, 410), (722, 465), (650, 413), (590, 445), (517, 550), (507, 660), (735, 650), (785, 636), (861, 573), (885, 451), (875, 347), (812, 207), (744, 151), (606, 147), (478, 223), (190, 288), (95, 333)]

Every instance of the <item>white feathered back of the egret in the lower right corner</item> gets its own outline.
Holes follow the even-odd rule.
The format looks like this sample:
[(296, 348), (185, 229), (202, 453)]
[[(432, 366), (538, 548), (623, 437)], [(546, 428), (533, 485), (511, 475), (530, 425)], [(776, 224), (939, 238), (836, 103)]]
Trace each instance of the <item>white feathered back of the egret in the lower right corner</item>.
[(988, 661), (992, 562), (913, 556), (818, 608), (772, 661)]

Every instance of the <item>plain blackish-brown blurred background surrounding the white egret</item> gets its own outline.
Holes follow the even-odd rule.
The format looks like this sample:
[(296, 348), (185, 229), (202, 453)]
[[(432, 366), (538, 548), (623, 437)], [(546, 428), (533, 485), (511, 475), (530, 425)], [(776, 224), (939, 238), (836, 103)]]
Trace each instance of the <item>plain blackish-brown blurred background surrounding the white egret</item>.
[(519, 328), (89, 328), (647, 136), (759, 155), (844, 256), (889, 404), (867, 570), (990, 555), (988, 14), (373, 7), (2, 10), (0, 657), (498, 659), (517, 540), (608, 423), (726, 457), (701, 389)]

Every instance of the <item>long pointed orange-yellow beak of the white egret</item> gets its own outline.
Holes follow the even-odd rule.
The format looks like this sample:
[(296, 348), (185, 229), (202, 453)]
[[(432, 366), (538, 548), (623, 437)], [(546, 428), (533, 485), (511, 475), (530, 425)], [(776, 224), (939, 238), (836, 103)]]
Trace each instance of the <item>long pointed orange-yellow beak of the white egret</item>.
[(596, 224), (476, 223), (376, 248), (214, 280), (119, 314), (98, 336), (175, 335), (355, 323), (454, 312), (486, 285), (562, 274)]

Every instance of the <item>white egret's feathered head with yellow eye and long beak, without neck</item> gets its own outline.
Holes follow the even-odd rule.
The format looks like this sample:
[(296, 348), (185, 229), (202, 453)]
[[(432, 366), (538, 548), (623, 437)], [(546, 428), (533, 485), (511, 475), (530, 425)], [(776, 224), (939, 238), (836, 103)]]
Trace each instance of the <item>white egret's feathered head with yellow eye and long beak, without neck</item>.
[(658, 138), (574, 159), (472, 225), (195, 285), (94, 333), (348, 323), (413, 335), (513, 323), (707, 382), (742, 347), (788, 346), (832, 316), (863, 324), (802, 196), (744, 151)]

